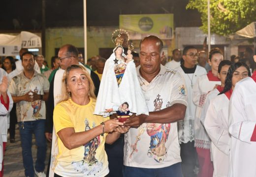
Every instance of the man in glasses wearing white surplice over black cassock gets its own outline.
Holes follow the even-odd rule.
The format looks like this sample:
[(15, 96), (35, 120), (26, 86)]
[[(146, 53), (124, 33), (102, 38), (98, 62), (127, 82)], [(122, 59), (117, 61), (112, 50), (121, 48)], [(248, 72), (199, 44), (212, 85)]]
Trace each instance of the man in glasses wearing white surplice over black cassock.
[(196, 164), (196, 150), (194, 148), (194, 115), (195, 104), (193, 103), (193, 85), (195, 85), (199, 76), (207, 74), (206, 70), (196, 65), (198, 54), (194, 46), (187, 46), (183, 50), (182, 63), (179, 67), (175, 68), (180, 71), (185, 79), (187, 96), (188, 96), (188, 109), (184, 120), (178, 121), (178, 135), (181, 147), (181, 165), (184, 177), (196, 177), (193, 170)]

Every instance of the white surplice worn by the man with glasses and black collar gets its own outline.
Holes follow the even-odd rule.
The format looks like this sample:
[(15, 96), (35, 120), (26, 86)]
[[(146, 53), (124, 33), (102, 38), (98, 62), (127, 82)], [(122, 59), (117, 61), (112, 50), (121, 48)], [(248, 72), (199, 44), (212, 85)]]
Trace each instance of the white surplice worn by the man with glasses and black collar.
[(178, 135), (179, 143), (188, 143), (194, 140), (194, 115), (195, 115), (195, 104), (193, 103), (193, 91), (192, 86), (195, 85), (199, 76), (206, 74), (206, 70), (201, 66), (196, 66), (194, 73), (186, 74), (181, 66), (177, 69), (185, 80), (188, 96), (188, 107), (186, 109), (185, 118), (178, 121)]

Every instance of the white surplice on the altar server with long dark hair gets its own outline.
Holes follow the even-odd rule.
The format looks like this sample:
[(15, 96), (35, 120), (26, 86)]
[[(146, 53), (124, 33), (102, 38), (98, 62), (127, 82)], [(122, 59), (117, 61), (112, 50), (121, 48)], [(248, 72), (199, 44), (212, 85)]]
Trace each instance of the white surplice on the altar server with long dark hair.
[[(215, 93), (219, 92), (217, 89), (214, 90)], [(212, 141), (213, 177), (228, 176), (231, 142), (228, 133), (228, 105), (229, 99), (225, 94), (215, 96), (210, 102), (204, 120), (204, 127)]]

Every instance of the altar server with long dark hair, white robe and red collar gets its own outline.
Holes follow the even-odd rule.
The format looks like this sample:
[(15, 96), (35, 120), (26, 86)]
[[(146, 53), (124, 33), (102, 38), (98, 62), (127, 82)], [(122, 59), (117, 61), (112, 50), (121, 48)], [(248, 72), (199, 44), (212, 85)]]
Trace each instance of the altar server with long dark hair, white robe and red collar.
[(231, 141), (228, 133), (229, 99), (235, 84), (248, 74), (251, 74), (250, 69), (245, 63), (233, 63), (228, 69), (224, 90), (209, 105), (204, 126), (212, 141), (213, 177), (228, 177)]

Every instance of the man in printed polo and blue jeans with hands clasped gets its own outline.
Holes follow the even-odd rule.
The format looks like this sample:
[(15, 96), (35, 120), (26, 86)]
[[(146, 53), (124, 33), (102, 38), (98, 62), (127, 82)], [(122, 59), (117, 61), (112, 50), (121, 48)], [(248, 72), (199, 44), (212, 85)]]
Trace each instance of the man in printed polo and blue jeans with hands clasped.
[[(22, 55), (24, 72), (15, 76), (10, 84), (9, 91), (16, 106), (19, 123), (23, 165), (26, 177), (45, 177), (46, 139), (45, 101), (48, 99), (49, 81), (34, 70), (34, 56), (31, 52)], [(33, 168), (32, 133), (35, 135), (37, 159)], [(35, 169), (35, 171), (34, 171)]]

